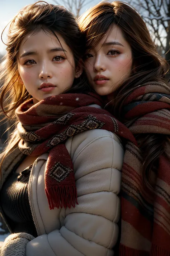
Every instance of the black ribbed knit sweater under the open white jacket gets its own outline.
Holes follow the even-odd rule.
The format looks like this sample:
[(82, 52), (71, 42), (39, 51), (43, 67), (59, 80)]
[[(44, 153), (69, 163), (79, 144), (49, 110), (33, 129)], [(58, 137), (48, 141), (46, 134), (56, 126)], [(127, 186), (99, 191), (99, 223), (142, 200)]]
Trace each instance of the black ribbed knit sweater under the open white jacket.
[(14, 168), (1, 189), (0, 205), (13, 233), (26, 232), (37, 237), (28, 198), (31, 167), (19, 174)]

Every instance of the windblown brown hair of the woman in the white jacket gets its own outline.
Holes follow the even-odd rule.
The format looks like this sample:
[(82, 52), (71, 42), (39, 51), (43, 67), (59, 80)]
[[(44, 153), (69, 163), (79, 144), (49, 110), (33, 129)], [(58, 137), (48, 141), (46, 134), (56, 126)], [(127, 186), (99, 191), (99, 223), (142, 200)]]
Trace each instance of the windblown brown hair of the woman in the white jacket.
[[(25, 36), (41, 30), (51, 32), (56, 37), (56, 32), (62, 36), (72, 51), (75, 67), (84, 55), (84, 36), (80, 32), (74, 15), (63, 6), (38, 1), (25, 6), (16, 14), (10, 23), (6, 44), (7, 53), (1, 64), (0, 76), (0, 105), (3, 114), (5, 114), (3, 121), (10, 118), (14, 129), (13, 133), (10, 134), (5, 151), (1, 154), (0, 166), (5, 157), (18, 145), (20, 139), (16, 131), (18, 120), (15, 115), (15, 109), (31, 97), (25, 86), (18, 79), (18, 51)], [(83, 72), (80, 78), (75, 78), (72, 87), (65, 93), (86, 93), (88, 91), (88, 82)]]

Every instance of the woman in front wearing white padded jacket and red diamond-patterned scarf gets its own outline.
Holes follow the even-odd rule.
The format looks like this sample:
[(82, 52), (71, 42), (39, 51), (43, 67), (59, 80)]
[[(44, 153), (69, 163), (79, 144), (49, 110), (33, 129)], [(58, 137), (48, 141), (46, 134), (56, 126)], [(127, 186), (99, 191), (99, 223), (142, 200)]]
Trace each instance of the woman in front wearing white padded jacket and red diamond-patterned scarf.
[(0, 255), (114, 255), (119, 136), (135, 140), (90, 93), (74, 16), (46, 2), (25, 6), (6, 50), (0, 103), (14, 131), (0, 156), (0, 212), (11, 234)]

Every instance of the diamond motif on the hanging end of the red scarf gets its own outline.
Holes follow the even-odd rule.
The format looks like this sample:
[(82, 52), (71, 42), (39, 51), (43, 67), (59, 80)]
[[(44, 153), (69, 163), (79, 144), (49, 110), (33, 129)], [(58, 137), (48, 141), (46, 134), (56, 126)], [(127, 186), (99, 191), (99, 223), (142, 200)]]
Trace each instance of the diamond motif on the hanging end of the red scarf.
[(66, 179), (69, 176), (72, 169), (66, 166), (63, 166), (60, 162), (57, 162), (49, 171), (49, 176), (58, 182)]

